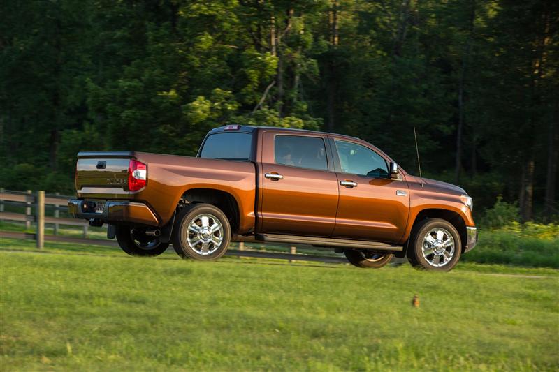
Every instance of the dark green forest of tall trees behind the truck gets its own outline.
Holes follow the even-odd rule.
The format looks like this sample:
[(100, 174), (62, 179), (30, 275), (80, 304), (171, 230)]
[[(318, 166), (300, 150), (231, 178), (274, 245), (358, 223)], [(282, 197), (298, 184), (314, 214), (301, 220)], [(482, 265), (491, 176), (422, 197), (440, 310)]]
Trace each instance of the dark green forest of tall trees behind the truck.
[[(474, 212), (557, 221), (559, 1), (0, 1), (0, 186), (224, 124), (361, 137)], [(500, 199), (499, 199), (500, 200)]]

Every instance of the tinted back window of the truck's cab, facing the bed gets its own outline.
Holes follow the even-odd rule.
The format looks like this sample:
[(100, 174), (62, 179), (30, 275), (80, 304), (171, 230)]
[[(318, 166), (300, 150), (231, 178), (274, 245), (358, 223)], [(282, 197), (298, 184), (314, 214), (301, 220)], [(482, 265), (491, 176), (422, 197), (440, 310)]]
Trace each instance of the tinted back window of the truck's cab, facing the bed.
[(201, 158), (249, 160), (252, 135), (249, 133), (216, 133), (208, 137)]

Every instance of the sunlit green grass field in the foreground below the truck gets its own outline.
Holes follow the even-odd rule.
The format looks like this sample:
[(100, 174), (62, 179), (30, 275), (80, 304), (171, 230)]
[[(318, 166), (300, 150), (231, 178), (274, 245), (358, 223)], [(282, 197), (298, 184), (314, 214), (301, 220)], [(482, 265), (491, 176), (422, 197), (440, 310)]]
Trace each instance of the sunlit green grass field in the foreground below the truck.
[(2, 371), (559, 367), (555, 269), (375, 271), (32, 244), (1, 243)]

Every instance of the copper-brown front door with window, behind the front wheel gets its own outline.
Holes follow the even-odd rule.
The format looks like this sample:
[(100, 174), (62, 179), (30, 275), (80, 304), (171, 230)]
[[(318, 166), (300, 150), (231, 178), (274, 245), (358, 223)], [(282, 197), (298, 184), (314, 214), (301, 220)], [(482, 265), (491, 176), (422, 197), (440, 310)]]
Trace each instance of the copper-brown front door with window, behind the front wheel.
[(397, 243), (406, 228), (409, 190), (386, 160), (361, 144), (333, 140), (340, 202), (333, 237)]

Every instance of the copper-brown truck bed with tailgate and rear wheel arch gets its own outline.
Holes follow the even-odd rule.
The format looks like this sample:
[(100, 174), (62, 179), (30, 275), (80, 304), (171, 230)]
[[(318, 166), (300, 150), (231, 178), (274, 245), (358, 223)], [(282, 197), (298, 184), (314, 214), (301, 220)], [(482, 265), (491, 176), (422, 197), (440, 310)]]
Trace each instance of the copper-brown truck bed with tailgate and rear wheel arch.
[[(129, 163), (147, 165), (146, 185), (138, 191), (128, 188)], [(235, 198), (240, 232), (254, 227), (256, 168), (249, 161), (226, 161), (151, 154), (147, 152), (80, 152), (75, 186), (79, 200), (127, 200), (149, 207), (161, 227), (172, 218), (186, 191), (212, 188)], [(153, 224), (152, 224), (153, 225)]]

